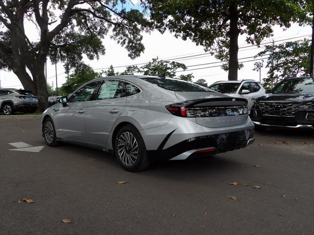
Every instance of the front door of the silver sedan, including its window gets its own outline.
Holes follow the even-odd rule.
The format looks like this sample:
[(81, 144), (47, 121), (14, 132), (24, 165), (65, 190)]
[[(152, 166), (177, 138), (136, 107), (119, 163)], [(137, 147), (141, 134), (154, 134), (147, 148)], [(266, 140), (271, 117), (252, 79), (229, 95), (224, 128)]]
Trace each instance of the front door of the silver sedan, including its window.
[(62, 104), (54, 105), (56, 112), (57, 137), (74, 141), (86, 141), (85, 114), (95, 97), (94, 91), (100, 81), (90, 82), (79, 88), (68, 98), (65, 107)]

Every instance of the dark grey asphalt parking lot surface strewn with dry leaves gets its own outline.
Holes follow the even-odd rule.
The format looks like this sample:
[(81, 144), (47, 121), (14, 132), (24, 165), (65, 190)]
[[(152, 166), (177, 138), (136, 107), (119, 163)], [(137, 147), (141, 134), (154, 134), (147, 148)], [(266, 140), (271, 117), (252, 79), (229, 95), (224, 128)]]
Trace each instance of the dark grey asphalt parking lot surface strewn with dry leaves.
[(99, 150), (46, 146), (39, 117), (0, 117), (0, 234), (314, 234), (313, 132), (255, 138), (131, 173)]

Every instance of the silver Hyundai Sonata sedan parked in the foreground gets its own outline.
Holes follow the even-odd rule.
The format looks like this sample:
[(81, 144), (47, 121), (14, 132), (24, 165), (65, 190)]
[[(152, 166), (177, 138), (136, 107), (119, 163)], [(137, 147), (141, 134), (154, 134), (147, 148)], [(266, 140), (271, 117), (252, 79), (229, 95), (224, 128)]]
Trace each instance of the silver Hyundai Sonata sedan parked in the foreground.
[(253, 143), (247, 100), (178, 79), (110, 76), (82, 85), (42, 116), (49, 146), (66, 141), (115, 154), (129, 171)]

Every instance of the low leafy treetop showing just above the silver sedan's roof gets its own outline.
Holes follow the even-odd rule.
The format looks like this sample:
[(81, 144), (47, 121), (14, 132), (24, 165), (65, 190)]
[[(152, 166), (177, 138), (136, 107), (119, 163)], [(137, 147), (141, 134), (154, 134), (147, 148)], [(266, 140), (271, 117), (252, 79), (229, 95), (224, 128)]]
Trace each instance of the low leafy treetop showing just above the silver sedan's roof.
[(176, 71), (182, 69), (185, 71), (187, 68), (183, 63), (175, 61), (165, 61), (153, 58), (152, 61), (138, 68), (137, 66), (129, 66), (122, 74), (133, 74), (134, 72), (142, 73), (143, 75), (159, 76), (159, 77), (172, 77), (185, 81), (192, 81), (194, 77), (191, 73), (186, 75), (176, 76)]

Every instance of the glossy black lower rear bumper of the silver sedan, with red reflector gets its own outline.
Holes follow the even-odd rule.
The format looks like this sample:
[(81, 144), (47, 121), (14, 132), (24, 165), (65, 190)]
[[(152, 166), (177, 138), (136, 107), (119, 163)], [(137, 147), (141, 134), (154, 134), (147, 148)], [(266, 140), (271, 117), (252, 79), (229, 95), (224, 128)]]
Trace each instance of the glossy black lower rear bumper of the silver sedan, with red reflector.
[(199, 136), (181, 141), (166, 149), (149, 151), (155, 160), (185, 160), (188, 158), (210, 156), (235, 149), (244, 148), (252, 144), (254, 129), (235, 132)]

